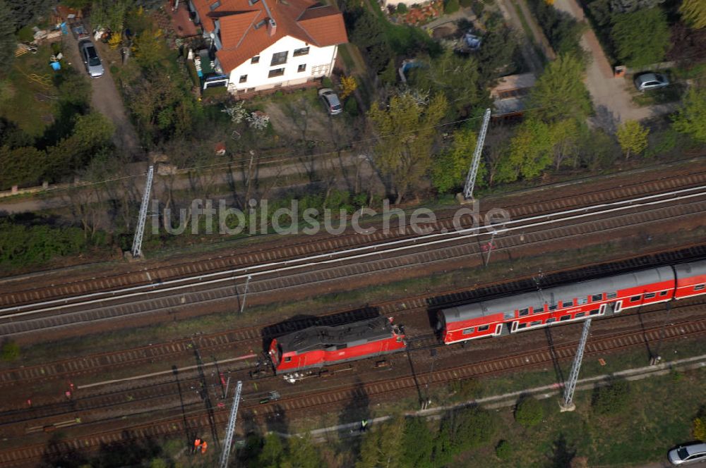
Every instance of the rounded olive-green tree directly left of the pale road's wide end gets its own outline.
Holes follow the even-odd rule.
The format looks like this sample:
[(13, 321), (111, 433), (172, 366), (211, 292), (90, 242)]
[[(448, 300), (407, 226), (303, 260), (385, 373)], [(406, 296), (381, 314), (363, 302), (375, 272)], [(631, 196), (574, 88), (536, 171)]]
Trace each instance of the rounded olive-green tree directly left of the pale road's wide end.
[(591, 112), (591, 98), (583, 84), (584, 66), (579, 58), (564, 54), (549, 63), (530, 94), (530, 107), (544, 121), (585, 119)]

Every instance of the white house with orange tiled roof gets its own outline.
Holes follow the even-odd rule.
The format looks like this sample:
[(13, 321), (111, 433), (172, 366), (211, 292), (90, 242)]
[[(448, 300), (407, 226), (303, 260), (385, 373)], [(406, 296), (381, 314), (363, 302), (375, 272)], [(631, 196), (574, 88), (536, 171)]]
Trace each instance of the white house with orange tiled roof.
[(189, 0), (189, 9), (220, 74), (211, 82), (234, 94), (330, 76), (348, 42), (340, 11), (316, 0)]

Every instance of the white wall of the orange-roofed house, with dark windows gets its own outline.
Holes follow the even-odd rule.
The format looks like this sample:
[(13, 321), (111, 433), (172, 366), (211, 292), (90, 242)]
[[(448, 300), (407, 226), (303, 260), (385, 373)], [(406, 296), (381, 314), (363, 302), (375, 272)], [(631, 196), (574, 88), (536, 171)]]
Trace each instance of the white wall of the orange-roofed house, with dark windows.
[[(309, 54), (295, 57), (294, 50), (309, 47)], [(287, 51), (287, 62), (282, 65), (270, 66), (273, 54)], [(246, 90), (268, 90), (278, 86), (299, 85), (311, 78), (329, 76), (333, 71), (333, 62), (337, 54), (337, 46), (315, 47), (299, 39), (287, 36), (282, 37), (275, 44), (260, 53), (259, 63), (245, 61), (230, 73), (229, 90), (231, 92), (244, 92)], [(300, 65), (306, 65), (306, 70), (299, 72)], [(270, 70), (284, 68), (281, 76), (268, 78)], [(241, 83), (240, 77), (248, 75), (247, 81)]]

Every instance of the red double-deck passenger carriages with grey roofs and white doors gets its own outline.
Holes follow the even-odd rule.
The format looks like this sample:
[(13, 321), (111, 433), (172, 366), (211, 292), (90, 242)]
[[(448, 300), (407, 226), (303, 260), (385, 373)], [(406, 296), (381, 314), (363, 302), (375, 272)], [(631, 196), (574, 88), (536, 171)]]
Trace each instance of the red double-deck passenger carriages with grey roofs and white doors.
[(444, 343), (459, 343), (700, 294), (706, 294), (706, 260), (442, 309), (437, 328)]

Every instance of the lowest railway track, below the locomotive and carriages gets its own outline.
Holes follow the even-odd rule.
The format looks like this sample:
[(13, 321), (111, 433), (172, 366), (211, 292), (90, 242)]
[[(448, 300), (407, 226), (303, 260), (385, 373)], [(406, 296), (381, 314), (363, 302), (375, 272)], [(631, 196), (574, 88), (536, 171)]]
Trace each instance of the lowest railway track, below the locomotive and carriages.
[[(604, 338), (590, 338), (586, 347), (587, 355), (615, 352), (657, 340), (673, 340), (677, 338), (695, 338), (706, 334), (706, 318), (683, 321), (665, 326), (640, 329), (630, 333), (622, 333)], [(360, 398), (381, 398), (393, 393), (409, 392), (419, 386), (439, 385), (464, 378), (503, 374), (531, 367), (546, 366), (554, 359), (568, 360), (573, 358), (575, 343), (549, 347), (539, 347), (529, 352), (515, 353), (486, 359), (484, 362), (474, 362), (457, 367), (437, 369), (426, 378), (414, 376), (398, 377), (369, 383), (361, 383), (354, 388), (330, 388), (308, 395), (287, 395), (276, 402), (258, 404), (253, 398), (245, 395), (241, 408), (256, 409), (261, 418), (271, 417), (276, 412), (301, 412), (321, 406), (340, 405), (349, 400)], [(228, 412), (218, 411), (213, 414), (216, 424), (225, 424)], [(139, 424), (130, 428), (115, 429), (92, 433), (90, 436), (73, 436), (70, 439), (55, 440), (49, 444), (35, 444), (0, 450), (0, 467), (23, 467), (39, 460), (60, 460), (61, 454), (91, 451), (108, 444), (125, 444), (136, 440), (159, 438), (185, 431), (196, 432), (208, 426), (205, 414), (185, 414), (174, 417), (164, 417), (151, 423)]]

